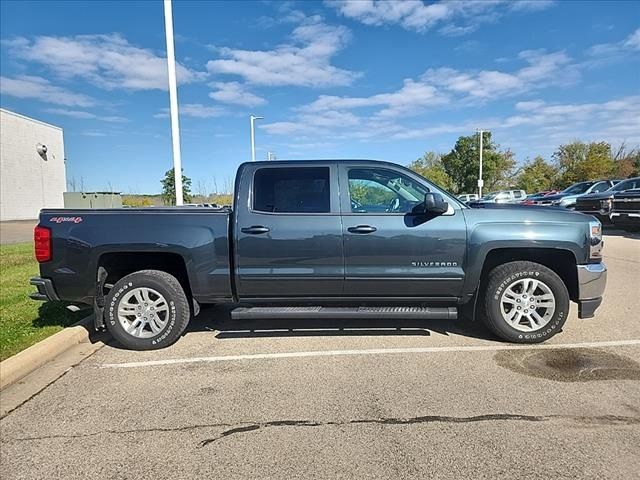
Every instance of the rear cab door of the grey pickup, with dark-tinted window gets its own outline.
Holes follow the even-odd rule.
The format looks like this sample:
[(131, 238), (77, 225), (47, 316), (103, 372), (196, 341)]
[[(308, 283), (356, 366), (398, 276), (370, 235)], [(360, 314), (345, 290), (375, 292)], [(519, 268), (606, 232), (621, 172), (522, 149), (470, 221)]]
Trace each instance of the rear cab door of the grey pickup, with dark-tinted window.
[(333, 162), (245, 164), (237, 182), (240, 299), (342, 294), (344, 255)]

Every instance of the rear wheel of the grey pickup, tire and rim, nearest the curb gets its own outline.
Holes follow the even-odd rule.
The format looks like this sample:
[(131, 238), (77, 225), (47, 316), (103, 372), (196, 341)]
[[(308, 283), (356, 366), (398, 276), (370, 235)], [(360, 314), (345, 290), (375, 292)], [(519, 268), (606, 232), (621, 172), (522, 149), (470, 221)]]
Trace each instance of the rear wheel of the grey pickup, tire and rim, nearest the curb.
[(131, 350), (173, 344), (187, 328), (190, 316), (180, 282), (159, 270), (140, 270), (121, 278), (106, 298), (107, 330)]

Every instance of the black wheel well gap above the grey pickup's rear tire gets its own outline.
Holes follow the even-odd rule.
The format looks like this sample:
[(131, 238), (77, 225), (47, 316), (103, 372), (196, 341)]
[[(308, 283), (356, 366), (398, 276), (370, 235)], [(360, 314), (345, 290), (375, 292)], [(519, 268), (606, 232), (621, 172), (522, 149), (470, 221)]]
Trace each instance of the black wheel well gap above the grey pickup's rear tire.
[(113, 252), (105, 253), (98, 260), (98, 267), (107, 271), (105, 283), (113, 285), (122, 277), (139, 270), (161, 270), (180, 282), (184, 293), (191, 298), (191, 285), (184, 259), (177, 253)]

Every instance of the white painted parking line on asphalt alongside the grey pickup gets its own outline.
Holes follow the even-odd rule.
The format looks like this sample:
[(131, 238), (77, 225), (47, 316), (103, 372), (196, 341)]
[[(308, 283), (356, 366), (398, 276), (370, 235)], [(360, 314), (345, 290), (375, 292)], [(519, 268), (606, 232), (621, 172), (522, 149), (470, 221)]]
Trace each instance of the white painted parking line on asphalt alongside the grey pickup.
[(311, 352), (253, 353), (246, 355), (225, 355), (220, 357), (171, 358), (148, 360), (146, 362), (104, 363), (100, 368), (140, 368), (185, 363), (237, 362), (242, 360), (271, 360), (278, 358), (337, 357), (349, 355), (389, 355), (402, 353), (446, 353), (446, 352), (490, 352), (496, 350), (541, 350), (570, 348), (604, 348), (640, 346), (640, 340), (616, 340), (610, 342), (561, 343), (539, 345), (471, 345), (458, 347), (417, 347), (417, 348), (372, 348), (363, 350), (319, 350)]

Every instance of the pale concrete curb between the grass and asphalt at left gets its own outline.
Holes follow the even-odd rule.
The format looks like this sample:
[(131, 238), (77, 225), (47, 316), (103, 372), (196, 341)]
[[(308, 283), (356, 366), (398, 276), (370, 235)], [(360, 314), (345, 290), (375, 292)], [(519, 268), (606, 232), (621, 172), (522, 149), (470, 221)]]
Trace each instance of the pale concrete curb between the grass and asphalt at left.
[(79, 343), (89, 341), (93, 314), (0, 362), (0, 390), (50, 362)]

